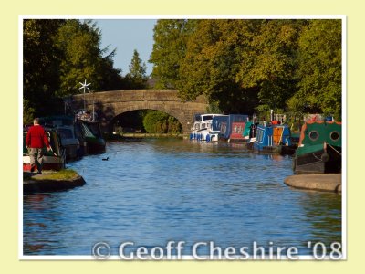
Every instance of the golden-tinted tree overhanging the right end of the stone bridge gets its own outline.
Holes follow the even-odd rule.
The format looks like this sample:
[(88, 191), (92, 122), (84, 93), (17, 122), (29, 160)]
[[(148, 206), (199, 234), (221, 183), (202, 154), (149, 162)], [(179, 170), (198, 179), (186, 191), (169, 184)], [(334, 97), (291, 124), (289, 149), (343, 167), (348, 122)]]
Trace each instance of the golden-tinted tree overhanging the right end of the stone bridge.
[(224, 112), (254, 111), (255, 87), (243, 88), (236, 79), (249, 24), (246, 20), (199, 21), (179, 69), (177, 87), (183, 99), (204, 94)]

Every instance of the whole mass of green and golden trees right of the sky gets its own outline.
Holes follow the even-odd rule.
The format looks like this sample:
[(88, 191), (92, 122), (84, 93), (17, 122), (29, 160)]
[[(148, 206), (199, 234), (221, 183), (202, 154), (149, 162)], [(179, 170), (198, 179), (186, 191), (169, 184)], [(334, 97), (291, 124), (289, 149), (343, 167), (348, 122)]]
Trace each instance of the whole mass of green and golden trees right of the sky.
[(160, 87), (226, 113), (297, 106), (340, 118), (340, 20), (159, 20), (150, 61)]

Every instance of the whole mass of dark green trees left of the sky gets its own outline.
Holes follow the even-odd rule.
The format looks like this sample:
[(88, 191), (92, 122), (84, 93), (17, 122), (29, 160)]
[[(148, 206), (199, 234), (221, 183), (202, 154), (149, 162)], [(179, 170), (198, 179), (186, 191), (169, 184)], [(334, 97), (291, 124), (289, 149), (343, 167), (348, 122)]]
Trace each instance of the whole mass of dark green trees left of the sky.
[[(120, 69), (113, 68), (109, 47), (100, 49), (101, 33), (92, 21), (27, 19), (23, 22), (24, 99), (34, 115), (63, 111), (62, 97), (79, 93), (88, 79), (92, 90), (120, 90)], [(105, 56), (106, 55), (106, 56)]]

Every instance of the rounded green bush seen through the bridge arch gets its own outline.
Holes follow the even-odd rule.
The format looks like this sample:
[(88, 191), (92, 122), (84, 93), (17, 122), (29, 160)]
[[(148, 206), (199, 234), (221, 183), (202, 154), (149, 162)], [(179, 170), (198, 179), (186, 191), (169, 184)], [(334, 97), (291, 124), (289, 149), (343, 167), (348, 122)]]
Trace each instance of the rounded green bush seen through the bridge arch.
[(149, 111), (143, 118), (143, 126), (149, 133), (180, 133), (182, 126), (176, 118), (162, 111)]

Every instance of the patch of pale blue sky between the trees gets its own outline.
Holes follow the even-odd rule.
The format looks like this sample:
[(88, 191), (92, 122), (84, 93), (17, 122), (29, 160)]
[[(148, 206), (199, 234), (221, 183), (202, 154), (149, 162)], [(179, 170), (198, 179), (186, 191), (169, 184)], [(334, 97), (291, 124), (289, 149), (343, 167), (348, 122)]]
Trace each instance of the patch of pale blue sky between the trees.
[(147, 75), (151, 74), (152, 64), (148, 63), (153, 47), (154, 19), (98, 19), (101, 30), (101, 48), (110, 45), (110, 50), (117, 48), (114, 68), (121, 68), (122, 75), (129, 72), (133, 50), (137, 49), (140, 58), (147, 66)]

